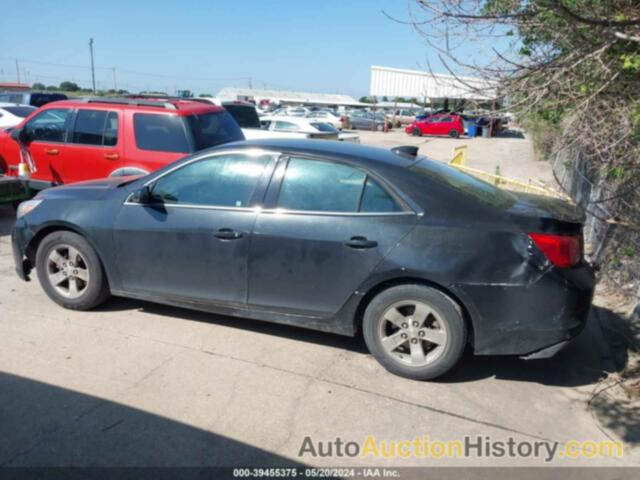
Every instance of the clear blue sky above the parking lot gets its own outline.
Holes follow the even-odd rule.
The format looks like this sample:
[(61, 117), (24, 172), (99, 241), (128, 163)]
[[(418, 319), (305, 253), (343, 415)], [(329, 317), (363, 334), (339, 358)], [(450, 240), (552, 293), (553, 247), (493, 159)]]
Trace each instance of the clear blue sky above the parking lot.
[[(46, 7), (44, 5), (47, 5)], [(437, 58), (409, 26), (407, 0), (58, 0), (7, 2), (0, 17), (0, 80), (98, 88), (225, 86), (366, 95), (369, 68), (420, 68)], [(54, 65), (55, 64), (55, 65)], [(65, 66), (58, 66), (65, 65)], [(441, 71), (444, 71), (440, 68)]]

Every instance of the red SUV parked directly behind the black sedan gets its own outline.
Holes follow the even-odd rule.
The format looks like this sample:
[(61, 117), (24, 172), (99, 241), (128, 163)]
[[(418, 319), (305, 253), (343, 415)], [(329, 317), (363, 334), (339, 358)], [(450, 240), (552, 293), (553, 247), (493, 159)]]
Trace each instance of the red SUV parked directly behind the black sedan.
[(64, 100), (36, 110), (9, 131), (0, 131), (0, 174), (16, 176), (21, 158), (30, 156), (29, 184), (41, 190), (146, 174), (189, 153), (236, 140), (244, 140), (240, 127), (216, 105), (126, 98)]

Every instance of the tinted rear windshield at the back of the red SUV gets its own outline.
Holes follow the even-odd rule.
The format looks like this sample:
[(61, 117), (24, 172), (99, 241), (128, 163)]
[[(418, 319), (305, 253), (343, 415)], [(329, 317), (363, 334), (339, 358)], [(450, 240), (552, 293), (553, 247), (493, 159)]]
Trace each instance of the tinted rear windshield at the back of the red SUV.
[(242, 130), (228, 112), (205, 113), (186, 117), (195, 150), (221, 143), (244, 140)]

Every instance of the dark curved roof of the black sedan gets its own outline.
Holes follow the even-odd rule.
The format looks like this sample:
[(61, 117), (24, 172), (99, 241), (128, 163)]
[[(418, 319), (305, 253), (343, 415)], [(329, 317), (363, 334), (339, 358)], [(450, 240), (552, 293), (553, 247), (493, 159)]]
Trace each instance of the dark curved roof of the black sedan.
[(380, 147), (361, 145), (358, 143), (294, 138), (263, 138), (246, 140), (243, 142), (228, 143), (214, 148), (216, 151), (220, 149), (258, 148), (292, 154), (298, 153), (302, 155), (306, 154), (320, 157), (340, 158), (361, 166), (379, 164), (380, 166), (402, 168), (408, 167), (414, 164), (419, 158), (422, 158), (396, 153), (392, 150)]

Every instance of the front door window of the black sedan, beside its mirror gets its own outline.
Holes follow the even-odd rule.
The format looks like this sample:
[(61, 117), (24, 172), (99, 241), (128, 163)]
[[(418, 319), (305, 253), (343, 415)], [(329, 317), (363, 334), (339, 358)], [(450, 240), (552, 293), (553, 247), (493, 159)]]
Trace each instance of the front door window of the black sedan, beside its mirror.
[(157, 180), (152, 195), (169, 205), (246, 208), (269, 159), (232, 154), (198, 160)]

